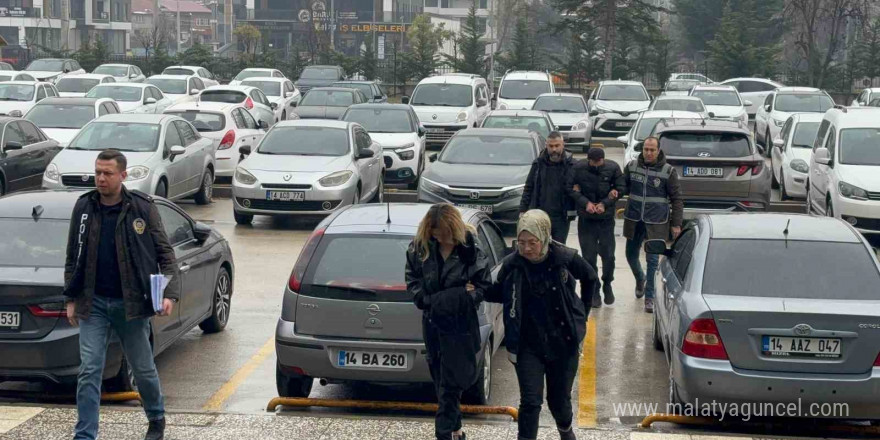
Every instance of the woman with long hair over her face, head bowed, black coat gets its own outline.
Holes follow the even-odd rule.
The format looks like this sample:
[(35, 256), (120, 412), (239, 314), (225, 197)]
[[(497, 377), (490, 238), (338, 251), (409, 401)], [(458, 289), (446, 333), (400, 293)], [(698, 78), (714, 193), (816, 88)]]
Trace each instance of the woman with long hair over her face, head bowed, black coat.
[(406, 252), (406, 288), (422, 310), (427, 361), (439, 408), (438, 440), (464, 440), (461, 395), (477, 380), (477, 309), (491, 287), (491, 268), (474, 231), (446, 203), (432, 206)]

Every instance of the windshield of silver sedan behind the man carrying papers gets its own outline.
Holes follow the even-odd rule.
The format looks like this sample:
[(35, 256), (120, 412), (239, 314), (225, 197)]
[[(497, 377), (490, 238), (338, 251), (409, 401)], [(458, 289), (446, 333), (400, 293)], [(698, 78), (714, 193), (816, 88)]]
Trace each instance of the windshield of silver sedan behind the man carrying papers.
[(119, 151), (148, 152), (156, 151), (158, 145), (157, 124), (95, 121), (85, 126), (67, 149), (101, 151), (114, 148)]

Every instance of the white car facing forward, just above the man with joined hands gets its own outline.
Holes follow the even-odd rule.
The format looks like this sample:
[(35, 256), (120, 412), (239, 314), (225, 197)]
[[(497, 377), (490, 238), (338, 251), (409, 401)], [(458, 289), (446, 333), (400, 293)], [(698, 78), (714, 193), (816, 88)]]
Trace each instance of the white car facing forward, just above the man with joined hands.
[(651, 95), (640, 82), (601, 81), (587, 100), (592, 137), (616, 139), (626, 134), (650, 105)]

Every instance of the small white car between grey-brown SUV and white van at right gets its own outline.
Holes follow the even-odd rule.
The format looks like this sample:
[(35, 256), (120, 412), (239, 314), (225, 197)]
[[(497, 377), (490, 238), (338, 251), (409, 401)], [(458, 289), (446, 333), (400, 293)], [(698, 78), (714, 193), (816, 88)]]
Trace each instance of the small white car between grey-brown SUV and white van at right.
[(773, 140), (770, 169), (773, 170), (773, 185), (779, 187), (782, 200), (807, 195), (813, 143), (822, 117), (822, 113), (795, 113), (785, 121), (781, 136)]

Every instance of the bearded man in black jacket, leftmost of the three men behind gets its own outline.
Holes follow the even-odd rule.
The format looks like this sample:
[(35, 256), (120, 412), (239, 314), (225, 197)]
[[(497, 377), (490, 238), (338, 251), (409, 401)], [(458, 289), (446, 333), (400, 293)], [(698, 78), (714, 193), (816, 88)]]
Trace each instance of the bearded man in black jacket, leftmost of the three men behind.
[(572, 166), (574, 159), (565, 151), (562, 134), (551, 132), (547, 136), (547, 148), (532, 162), (519, 204), (520, 215), (530, 209), (546, 212), (553, 225), (553, 239), (562, 244), (568, 238), (571, 225), (568, 213), (574, 210), (565, 187)]

